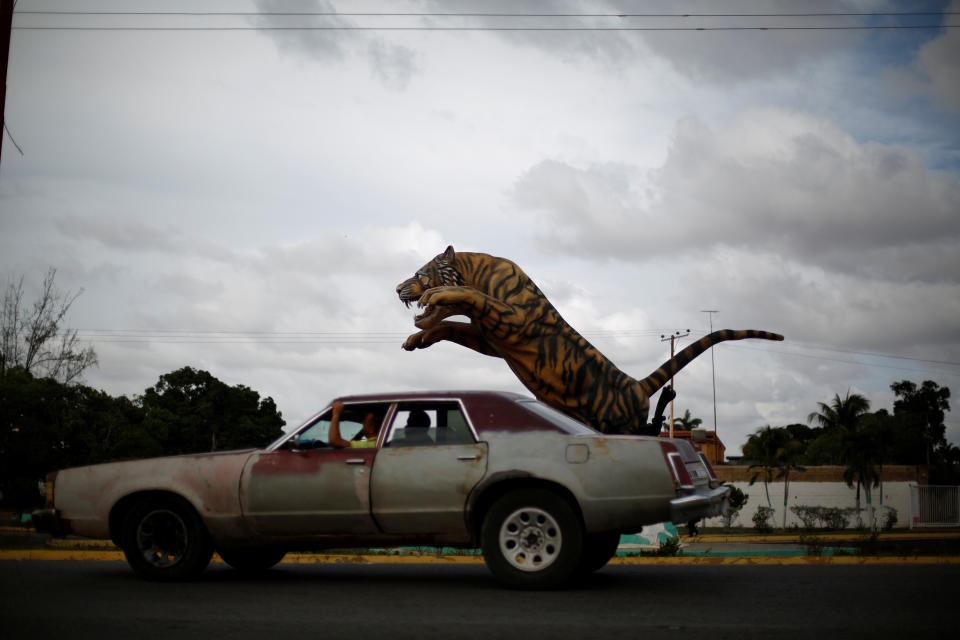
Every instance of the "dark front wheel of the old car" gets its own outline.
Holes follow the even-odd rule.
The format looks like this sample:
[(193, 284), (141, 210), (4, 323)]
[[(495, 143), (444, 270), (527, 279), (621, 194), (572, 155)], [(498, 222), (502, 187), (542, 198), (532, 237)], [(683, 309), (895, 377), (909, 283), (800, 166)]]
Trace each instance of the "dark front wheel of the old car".
[(210, 534), (193, 507), (173, 498), (146, 498), (123, 521), (123, 554), (148, 580), (170, 582), (198, 576), (213, 557)]

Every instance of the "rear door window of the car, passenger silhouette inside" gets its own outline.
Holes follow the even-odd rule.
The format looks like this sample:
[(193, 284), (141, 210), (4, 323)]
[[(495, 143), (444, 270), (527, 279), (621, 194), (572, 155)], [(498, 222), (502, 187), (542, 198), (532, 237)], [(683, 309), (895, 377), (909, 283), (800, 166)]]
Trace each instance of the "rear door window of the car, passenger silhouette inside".
[(408, 402), (397, 406), (388, 447), (471, 444), (473, 435), (457, 402)]

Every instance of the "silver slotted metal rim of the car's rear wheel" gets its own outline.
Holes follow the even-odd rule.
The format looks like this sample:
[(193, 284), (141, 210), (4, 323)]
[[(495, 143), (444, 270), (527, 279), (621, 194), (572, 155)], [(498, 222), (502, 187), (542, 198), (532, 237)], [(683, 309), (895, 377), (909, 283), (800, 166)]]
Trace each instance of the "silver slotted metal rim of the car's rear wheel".
[(500, 527), (500, 552), (521, 571), (542, 571), (560, 553), (563, 538), (553, 516), (536, 507), (517, 509)]

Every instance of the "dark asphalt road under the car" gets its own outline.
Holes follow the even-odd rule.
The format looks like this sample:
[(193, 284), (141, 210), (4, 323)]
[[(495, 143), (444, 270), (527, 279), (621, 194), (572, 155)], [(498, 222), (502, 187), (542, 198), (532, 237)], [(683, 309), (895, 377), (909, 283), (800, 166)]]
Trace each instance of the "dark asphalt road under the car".
[(144, 582), (0, 561), (0, 638), (956, 638), (958, 565), (613, 565), (563, 591), (483, 565), (282, 564)]

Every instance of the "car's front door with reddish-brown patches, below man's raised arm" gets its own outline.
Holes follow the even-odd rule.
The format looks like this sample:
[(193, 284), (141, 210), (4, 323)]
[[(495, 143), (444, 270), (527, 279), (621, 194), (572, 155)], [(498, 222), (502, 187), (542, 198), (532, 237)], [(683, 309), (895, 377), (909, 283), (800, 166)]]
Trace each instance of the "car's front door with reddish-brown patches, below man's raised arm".
[[(359, 431), (361, 413), (348, 406), (341, 420), (344, 437)], [(370, 514), (370, 470), (377, 449), (332, 448), (325, 442), (329, 425), (328, 411), (282, 448), (255, 454), (247, 462), (240, 481), (241, 508), (260, 535), (377, 532)]]

